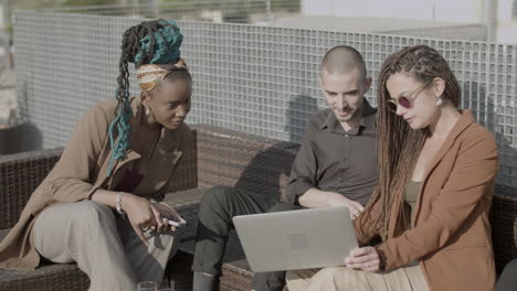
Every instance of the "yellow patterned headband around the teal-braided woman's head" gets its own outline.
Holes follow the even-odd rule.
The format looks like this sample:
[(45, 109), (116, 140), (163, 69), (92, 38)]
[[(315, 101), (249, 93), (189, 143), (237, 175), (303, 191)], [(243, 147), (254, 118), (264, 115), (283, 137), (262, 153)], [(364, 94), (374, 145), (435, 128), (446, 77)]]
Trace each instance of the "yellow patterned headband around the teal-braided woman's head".
[(158, 86), (173, 68), (187, 68), (182, 58), (176, 63), (145, 64), (137, 68), (138, 85), (143, 91), (150, 91)]

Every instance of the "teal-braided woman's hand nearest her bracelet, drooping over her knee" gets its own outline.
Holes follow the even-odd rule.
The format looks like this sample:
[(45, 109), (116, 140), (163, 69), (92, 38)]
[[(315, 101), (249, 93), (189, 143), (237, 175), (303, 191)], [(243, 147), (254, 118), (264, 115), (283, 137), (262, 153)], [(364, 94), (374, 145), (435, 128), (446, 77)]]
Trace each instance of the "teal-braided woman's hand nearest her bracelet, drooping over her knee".
[(149, 241), (144, 236), (144, 230), (156, 229), (163, 227), (160, 222), (161, 217), (159, 212), (151, 205), (151, 203), (143, 197), (124, 193), (122, 196), (122, 208), (126, 213), (133, 229), (141, 241), (149, 246)]

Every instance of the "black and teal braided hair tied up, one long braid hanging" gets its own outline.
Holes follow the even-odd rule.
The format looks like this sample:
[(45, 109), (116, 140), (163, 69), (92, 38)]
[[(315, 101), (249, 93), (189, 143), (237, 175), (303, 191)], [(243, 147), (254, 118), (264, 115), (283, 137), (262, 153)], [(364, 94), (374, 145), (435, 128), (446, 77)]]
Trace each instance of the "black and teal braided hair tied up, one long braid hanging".
[[(129, 148), (129, 133), (131, 127), (129, 120), (133, 109), (129, 104), (129, 69), (128, 64), (135, 67), (144, 64), (166, 64), (180, 57), (183, 35), (178, 24), (172, 20), (145, 21), (131, 26), (124, 32), (122, 41), (122, 54), (118, 62), (119, 75), (118, 88), (115, 97), (118, 100), (117, 116), (108, 128), (112, 158), (109, 160), (107, 176), (112, 175), (114, 162), (125, 157)], [(116, 139), (115, 132), (118, 133)]]

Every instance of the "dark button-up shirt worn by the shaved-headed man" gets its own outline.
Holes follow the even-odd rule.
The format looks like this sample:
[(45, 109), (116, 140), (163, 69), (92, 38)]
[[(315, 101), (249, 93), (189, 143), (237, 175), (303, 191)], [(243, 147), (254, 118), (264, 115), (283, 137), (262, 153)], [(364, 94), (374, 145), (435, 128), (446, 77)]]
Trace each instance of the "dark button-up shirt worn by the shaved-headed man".
[(377, 184), (376, 114), (365, 100), (361, 122), (349, 131), (330, 109), (313, 116), (293, 163), (289, 196), (316, 187), (365, 205)]

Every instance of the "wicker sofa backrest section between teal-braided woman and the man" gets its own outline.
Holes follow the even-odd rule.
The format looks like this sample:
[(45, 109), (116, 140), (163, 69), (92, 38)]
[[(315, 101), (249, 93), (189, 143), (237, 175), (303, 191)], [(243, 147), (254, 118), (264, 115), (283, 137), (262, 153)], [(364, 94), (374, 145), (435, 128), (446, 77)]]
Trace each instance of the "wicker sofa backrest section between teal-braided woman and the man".
[(296, 143), (212, 126), (192, 128), (197, 132), (198, 186), (235, 186), (289, 200), (285, 190)]

